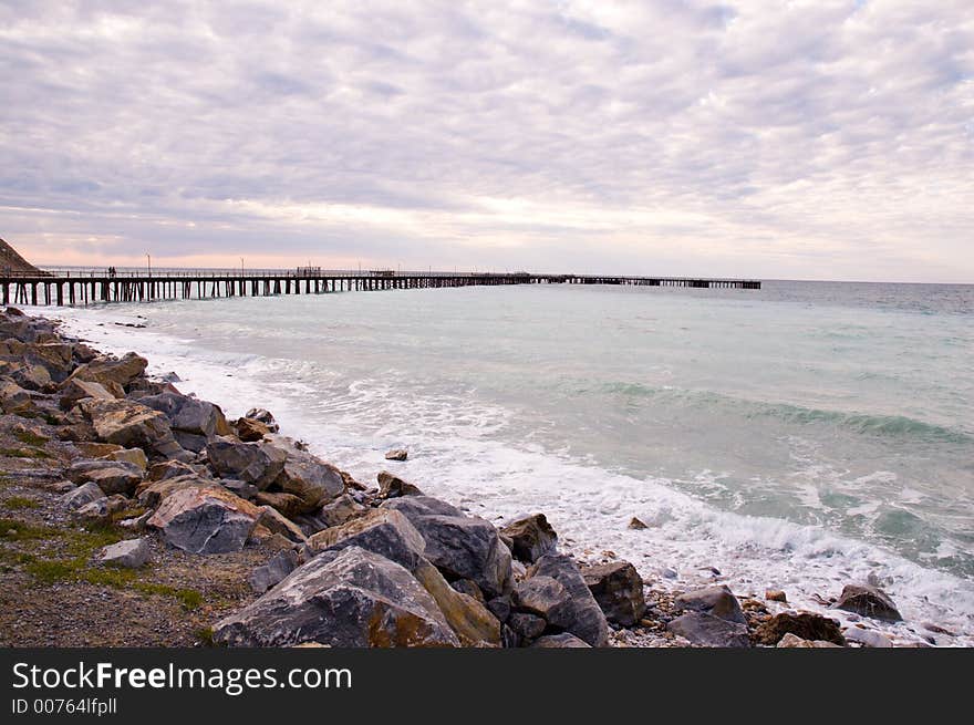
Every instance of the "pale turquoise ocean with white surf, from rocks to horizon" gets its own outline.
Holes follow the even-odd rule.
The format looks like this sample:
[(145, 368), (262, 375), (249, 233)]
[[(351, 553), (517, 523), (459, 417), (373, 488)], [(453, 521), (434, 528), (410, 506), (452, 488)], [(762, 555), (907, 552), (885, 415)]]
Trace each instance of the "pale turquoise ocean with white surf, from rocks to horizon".
[[(661, 588), (871, 581), (974, 644), (974, 287), (470, 287), (38, 310), (374, 481)], [(145, 329), (122, 327), (139, 323)], [(120, 324), (121, 323), (121, 324)], [(404, 464), (390, 448), (407, 448)], [(647, 525), (631, 530), (638, 517)], [(849, 619), (833, 610), (830, 615)], [(853, 618), (854, 619), (854, 618)]]

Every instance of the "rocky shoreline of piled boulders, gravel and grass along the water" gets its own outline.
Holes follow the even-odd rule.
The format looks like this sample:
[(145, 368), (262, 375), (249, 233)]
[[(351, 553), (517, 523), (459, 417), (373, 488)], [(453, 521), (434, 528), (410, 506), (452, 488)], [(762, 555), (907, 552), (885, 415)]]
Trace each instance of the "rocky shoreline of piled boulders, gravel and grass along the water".
[(868, 582), (823, 602), (847, 625), (790, 610), (780, 591), (664, 591), (612, 556), (559, 552), (543, 514), (498, 529), (422, 481), (380, 472), (364, 485), (268, 411), (228, 421), (146, 365), (0, 311), (0, 644), (884, 648), (951, 635), (924, 624), (915, 642), (891, 639), (882, 623), (900, 613)]

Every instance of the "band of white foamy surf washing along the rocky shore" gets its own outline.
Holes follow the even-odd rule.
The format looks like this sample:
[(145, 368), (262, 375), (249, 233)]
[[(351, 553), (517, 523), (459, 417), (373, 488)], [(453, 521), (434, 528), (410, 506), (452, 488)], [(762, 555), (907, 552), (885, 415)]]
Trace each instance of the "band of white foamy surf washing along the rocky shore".
[[(228, 416), (252, 406), (271, 410), (283, 433), (307, 441), (360, 480), (372, 481), (379, 470), (395, 465), (426, 493), (497, 524), (542, 511), (559, 532), (563, 550), (590, 559), (611, 551), (632, 561), (656, 587), (721, 582), (737, 594), (758, 598), (766, 589), (785, 589), (790, 608), (852, 622), (854, 615), (826, 610), (816, 597), (835, 597), (845, 583), (878, 581), (905, 621), (874, 626), (915, 641), (921, 633), (930, 636), (920, 622), (934, 622), (959, 635), (939, 634), (937, 644), (974, 645), (970, 580), (822, 527), (722, 511), (676, 490), (666, 479), (614, 474), (530, 441), (505, 442), (497, 434), (502, 434), (510, 412), (475, 403), (468, 391), (429, 397), (406, 394), (396, 386), (395, 371), (384, 371), (323, 398), (323, 381), (333, 373), (321, 365), (224, 353), (152, 329), (117, 327), (115, 322), (142, 322), (124, 310), (32, 312), (63, 320), (69, 332), (104, 351), (146, 355), (149, 374), (177, 372), (182, 391), (218, 403)], [(384, 452), (393, 447), (408, 448), (408, 462), (385, 462)], [(890, 475), (875, 472), (871, 477), (887, 480)], [(705, 477), (711, 484), (719, 481), (719, 475)], [(804, 491), (801, 498), (811, 503), (811, 493)], [(649, 528), (630, 530), (633, 517)], [(660, 576), (665, 569), (675, 570), (676, 577)], [(773, 611), (786, 608), (768, 605)]]

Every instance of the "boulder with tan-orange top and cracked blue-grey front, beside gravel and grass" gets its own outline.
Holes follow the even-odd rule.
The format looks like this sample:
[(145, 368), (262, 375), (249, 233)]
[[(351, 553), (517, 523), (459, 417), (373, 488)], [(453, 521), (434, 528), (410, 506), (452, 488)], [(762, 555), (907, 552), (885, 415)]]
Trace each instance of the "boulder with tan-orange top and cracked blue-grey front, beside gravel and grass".
[(172, 546), (190, 553), (239, 551), (257, 525), (260, 510), (219, 487), (187, 487), (162, 500), (147, 526)]

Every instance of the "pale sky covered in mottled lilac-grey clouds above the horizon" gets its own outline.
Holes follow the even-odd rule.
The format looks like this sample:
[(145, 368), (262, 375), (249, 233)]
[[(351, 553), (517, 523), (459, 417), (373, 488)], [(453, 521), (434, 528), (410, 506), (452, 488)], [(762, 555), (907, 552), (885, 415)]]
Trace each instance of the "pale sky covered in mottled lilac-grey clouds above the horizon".
[(974, 282), (971, 0), (0, 0), (0, 95), (40, 265)]

